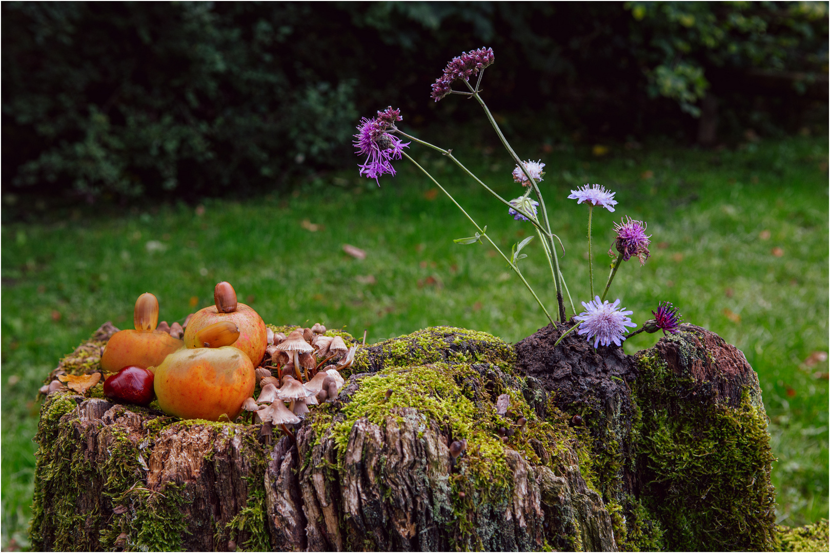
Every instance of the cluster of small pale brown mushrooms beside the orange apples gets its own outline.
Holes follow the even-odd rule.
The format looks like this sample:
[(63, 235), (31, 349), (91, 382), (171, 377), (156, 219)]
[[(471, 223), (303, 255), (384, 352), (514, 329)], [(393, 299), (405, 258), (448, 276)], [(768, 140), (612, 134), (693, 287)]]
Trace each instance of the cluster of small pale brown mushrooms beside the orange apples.
[(267, 332), (265, 360), (270, 364), (256, 368), (259, 397), (249, 397), (242, 409), (253, 414), (253, 422), (262, 423), (261, 435), (270, 437), (271, 429), (279, 426), (295, 439), (289, 425), (299, 423), (309, 405), (337, 397), (344, 385), (339, 371), (352, 365), (357, 345), (347, 347), (342, 337), (322, 336), (325, 327), (320, 323), (288, 336), (271, 328)]

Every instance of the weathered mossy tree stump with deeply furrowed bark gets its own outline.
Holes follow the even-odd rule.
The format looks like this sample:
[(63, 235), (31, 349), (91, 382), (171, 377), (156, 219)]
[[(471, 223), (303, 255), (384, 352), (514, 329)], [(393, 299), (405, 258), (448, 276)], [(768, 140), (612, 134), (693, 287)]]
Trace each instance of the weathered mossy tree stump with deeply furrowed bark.
[[(774, 549), (773, 456), (743, 354), (691, 325), (634, 356), (574, 335), (554, 348), (565, 329), (510, 346), (432, 327), (359, 347), (295, 442), (244, 418), (119, 405), (100, 385), (53, 392), (35, 438), (32, 546)], [(99, 370), (113, 332), (56, 371)]]

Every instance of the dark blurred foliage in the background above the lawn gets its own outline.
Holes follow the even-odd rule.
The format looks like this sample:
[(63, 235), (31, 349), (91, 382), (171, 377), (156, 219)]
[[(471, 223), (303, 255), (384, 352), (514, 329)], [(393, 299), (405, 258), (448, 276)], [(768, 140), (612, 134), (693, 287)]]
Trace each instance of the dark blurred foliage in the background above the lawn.
[[(395, 104), (408, 123), (463, 122), (471, 106), (433, 104), (429, 85), (478, 46), (496, 51), (492, 108), (541, 112), (583, 137), (691, 136), (707, 90), (720, 97), (722, 129), (774, 132), (799, 124), (793, 109), (826, 82), (828, 65), (826, 2), (3, 2), (0, 11), (2, 178), (61, 201), (244, 195), (342, 167), (359, 114)], [(751, 71), (784, 90), (759, 101)]]

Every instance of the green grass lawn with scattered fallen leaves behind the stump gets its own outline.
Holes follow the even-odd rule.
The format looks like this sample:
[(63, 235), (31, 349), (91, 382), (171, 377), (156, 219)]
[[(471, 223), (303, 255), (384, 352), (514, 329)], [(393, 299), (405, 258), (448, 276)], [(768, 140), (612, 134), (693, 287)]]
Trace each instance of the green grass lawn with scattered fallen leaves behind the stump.
[[(489, 138), (488, 138), (489, 139)], [(452, 144), (441, 144), (449, 147)], [(547, 148), (550, 150), (550, 148)], [(634, 322), (660, 300), (688, 323), (740, 347), (758, 371), (771, 425), (779, 521), (828, 514), (828, 141), (788, 138), (720, 152), (672, 148), (518, 148), (542, 158), (551, 224), (574, 302), (588, 301), (587, 209), (566, 199), (598, 182), (617, 211), (594, 211), (594, 269), (608, 276), (613, 221), (648, 223), (652, 258), (619, 269), (609, 298)], [(506, 155), (459, 148), (508, 199), (520, 195)], [(507, 252), (532, 231), (435, 153), (413, 148)], [(355, 159), (357, 163), (357, 159)], [(153, 292), (161, 319), (183, 321), (228, 280), (269, 323), (345, 327), (368, 342), (432, 325), (491, 332), (515, 342), (547, 320), (485, 245), (457, 245), (473, 229), (405, 161), (381, 187), (357, 167), (257, 201), (203, 207), (46, 212), (38, 224), (2, 225), (2, 546), (26, 545), (38, 386), (59, 358), (101, 323), (132, 326), (135, 298)], [(534, 240), (521, 261), (554, 313), (554, 289)], [(346, 255), (342, 245), (367, 252)], [(581, 310), (581, 308), (579, 309)], [(626, 352), (660, 335), (640, 334)], [(13, 544), (12, 544), (13, 545)]]

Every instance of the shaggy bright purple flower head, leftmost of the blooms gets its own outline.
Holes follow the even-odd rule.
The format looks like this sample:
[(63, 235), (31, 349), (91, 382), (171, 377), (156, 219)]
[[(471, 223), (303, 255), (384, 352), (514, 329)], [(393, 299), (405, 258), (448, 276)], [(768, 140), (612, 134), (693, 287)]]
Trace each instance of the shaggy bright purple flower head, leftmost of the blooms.
[(354, 135), (354, 147), (358, 148), (356, 153), (366, 156), (366, 163), (358, 165), (360, 174), (374, 178), (375, 182), (378, 182), (378, 187), (378, 177), (381, 175), (389, 173), (395, 176), (392, 160), (400, 159), (403, 148), (409, 146), (409, 143), (403, 143), (400, 138), (386, 132), (401, 119), (403, 118), (400, 110), (389, 106), (383, 111), (378, 111), (378, 116), (374, 119), (360, 119), (358, 133)]

